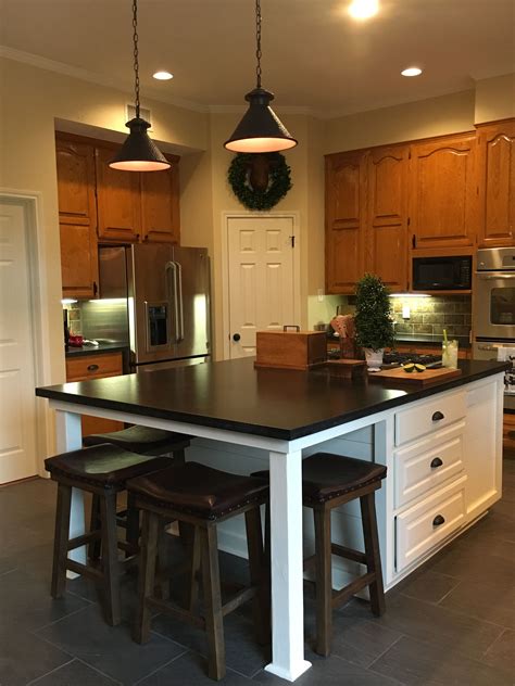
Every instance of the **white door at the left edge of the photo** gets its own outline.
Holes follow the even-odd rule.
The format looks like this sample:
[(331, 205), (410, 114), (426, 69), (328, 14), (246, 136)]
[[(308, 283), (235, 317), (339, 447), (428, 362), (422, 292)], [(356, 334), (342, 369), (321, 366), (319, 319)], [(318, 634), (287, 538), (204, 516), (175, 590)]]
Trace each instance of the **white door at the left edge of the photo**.
[(37, 473), (29, 293), (25, 212), (0, 203), (0, 483)]

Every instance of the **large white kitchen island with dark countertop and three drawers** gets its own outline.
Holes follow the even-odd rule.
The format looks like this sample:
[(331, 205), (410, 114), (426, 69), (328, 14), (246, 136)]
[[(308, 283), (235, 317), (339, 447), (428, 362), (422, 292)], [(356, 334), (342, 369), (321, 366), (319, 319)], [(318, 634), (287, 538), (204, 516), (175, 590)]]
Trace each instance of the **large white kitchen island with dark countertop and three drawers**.
[[(269, 463), (273, 657), (268, 671), (294, 681), (304, 660), (302, 457), (318, 449), (388, 467), (377, 494), (386, 588), (462, 533), (501, 497), (503, 373), (464, 361), (462, 374), (427, 388), (390, 389), (326, 371), (254, 369), (253, 359), (212, 363), (37, 389), (56, 410), (58, 449), (81, 445), (80, 415), (197, 436), (196, 459), (249, 473)], [(438, 458), (438, 459), (437, 459)], [(266, 466), (266, 465), (265, 465)], [(359, 509), (344, 506), (335, 535), (357, 547)], [(72, 534), (84, 531), (75, 494)], [(303, 529), (304, 537), (303, 541)], [(219, 536), (242, 554), (238, 528)], [(85, 551), (78, 550), (77, 555)], [(338, 584), (353, 569), (339, 568)]]

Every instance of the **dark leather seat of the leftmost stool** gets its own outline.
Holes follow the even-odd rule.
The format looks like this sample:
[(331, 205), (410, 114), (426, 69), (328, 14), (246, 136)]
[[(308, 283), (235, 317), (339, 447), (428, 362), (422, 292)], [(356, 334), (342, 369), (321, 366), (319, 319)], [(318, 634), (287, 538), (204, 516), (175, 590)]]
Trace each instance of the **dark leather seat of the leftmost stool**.
[(71, 477), (105, 488), (125, 487), (128, 479), (168, 467), (168, 457), (129, 453), (116, 445), (101, 445), (63, 453), (45, 460), (51, 474)]

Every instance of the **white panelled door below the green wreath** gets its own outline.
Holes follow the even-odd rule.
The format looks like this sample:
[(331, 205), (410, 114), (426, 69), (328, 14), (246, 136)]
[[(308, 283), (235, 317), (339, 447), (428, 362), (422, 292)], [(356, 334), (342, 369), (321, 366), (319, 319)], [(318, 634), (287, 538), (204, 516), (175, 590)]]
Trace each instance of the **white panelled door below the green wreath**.
[(228, 218), (231, 358), (255, 355), (256, 331), (299, 323), (293, 229), (292, 217)]

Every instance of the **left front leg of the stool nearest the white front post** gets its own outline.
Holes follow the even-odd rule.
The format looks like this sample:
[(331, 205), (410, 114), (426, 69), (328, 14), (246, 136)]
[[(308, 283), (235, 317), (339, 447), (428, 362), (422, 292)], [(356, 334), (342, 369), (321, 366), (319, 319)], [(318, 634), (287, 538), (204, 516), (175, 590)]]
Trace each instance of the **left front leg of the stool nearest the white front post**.
[(151, 598), (154, 593), (159, 523), (158, 514), (143, 510), (139, 558), (139, 602), (134, 626), (134, 639), (139, 644), (150, 639), (150, 609), (147, 598)]

